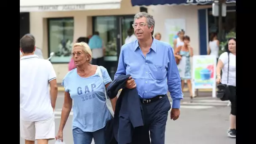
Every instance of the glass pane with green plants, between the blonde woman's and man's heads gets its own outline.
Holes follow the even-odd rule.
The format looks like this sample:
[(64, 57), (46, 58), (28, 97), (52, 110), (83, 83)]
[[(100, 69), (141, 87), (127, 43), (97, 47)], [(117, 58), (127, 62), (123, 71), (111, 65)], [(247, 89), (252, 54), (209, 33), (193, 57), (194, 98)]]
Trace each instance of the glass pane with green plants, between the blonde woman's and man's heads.
[(117, 17), (97, 16), (93, 23), (106, 48), (105, 61), (117, 61)]

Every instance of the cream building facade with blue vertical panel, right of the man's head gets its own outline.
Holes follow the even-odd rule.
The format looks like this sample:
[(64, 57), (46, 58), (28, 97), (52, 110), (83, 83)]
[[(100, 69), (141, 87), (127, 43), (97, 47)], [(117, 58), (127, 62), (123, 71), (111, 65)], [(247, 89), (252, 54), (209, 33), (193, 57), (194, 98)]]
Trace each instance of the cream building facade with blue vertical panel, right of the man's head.
[[(173, 35), (180, 29), (189, 35), (195, 55), (207, 54), (209, 37), (212, 32), (219, 32), (219, 17), (212, 15), (212, 5), (150, 5), (148, 12), (156, 21), (154, 32), (162, 34), (162, 40), (173, 43)], [(180, 22), (182, 20), (182, 22)], [(167, 25), (167, 21), (171, 21)], [(177, 21), (177, 23), (175, 23)], [(184, 24), (183, 24), (184, 22)], [(180, 26), (180, 27), (179, 27)], [(172, 27), (173, 29), (170, 29)], [(227, 40), (230, 32), (236, 29), (236, 5), (227, 4), (227, 15), (222, 17), (221, 40)], [(173, 33), (172, 33), (173, 32)], [(173, 34), (170, 37), (171, 33)], [(172, 45), (173, 46), (173, 45)]]

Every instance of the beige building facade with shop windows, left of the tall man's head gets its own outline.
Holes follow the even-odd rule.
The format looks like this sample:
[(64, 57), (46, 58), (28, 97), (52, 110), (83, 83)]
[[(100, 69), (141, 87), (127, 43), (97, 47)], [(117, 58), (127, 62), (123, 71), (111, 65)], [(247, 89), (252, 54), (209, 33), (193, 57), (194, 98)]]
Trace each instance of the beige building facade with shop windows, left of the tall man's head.
[[(89, 3), (89, 0), (83, 1)], [(49, 53), (51, 52), (56, 54), (51, 59), (51, 62), (56, 71), (58, 83), (62, 82), (63, 77), (68, 72), (72, 43), (78, 37), (92, 35), (93, 31), (99, 31), (100, 37), (103, 39), (107, 48), (105, 67), (108, 69), (112, 78), (115, 74), (120, 48), (127, 36), (126, 32), (131, 28), (133, 17), (140, 11), (140, 8), (132, 7), (131, 0), (93, 1), (94, 4), (91, 5), (89, 10), (85, 8), (89, 4), (85, 4), (85, 7), (79, 9), (82, 6), (79, 6), (78, 3), (76, 3), (77, 5), (71, 5), (69, 3), (69, 11), (67, 9), (62, 11), (62, 9), (68, 8), (68, 6), (57, 5), (57, 3), (56, 5), (61, 8), (57, 8), (56, 5), (44, 6), (46, 4), (43, 5), (42, 3), (37, 4), (39, 5), (37, 7), (26, 6), (28, 5), (26, 3), (20, 6), (20, 11), (30, 11), (29, 32), (35, 36), (36, 45), (42, 49), (44, 57), (49, 57)], [(92, 7), (97, 7), (95, 1), (97, 5), (100, 3), (101, 5), (105, 5), (105, 8), (102, 9), (98, 6), (97, 9), (93, 9)], [(106, 6), (107, 2), (112, 2), (112, 5)], [(113, 3), (119, 3), (119, 6), (113, 5)], [(33, 3), (29, 3), (29, 5), (33, 5)]]

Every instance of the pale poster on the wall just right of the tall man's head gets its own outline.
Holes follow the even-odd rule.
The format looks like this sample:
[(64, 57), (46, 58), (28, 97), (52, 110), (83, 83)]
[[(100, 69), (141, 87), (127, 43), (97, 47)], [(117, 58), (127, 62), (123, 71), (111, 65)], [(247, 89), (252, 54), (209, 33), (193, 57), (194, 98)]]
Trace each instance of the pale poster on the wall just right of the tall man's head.
[(186, 32), (185, 19), (165, 19), (165, 42), (169, 43), (173, 47), (173, 40), (179, 30), (184, 29)]

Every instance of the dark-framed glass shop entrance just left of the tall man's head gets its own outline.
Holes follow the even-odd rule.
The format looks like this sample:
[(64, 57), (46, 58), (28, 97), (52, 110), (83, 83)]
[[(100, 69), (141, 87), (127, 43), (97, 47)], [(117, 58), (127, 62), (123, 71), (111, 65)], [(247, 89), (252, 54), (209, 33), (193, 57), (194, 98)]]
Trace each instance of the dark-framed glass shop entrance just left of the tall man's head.
[(133, 17), (134, 15), (93, 17), (93, 32), (99, 32), (99, 36), (105, 45), (104, 67), (112, 80), (114, 80), (120, 49), (125, 43), (127, 31), (133, 29)]

